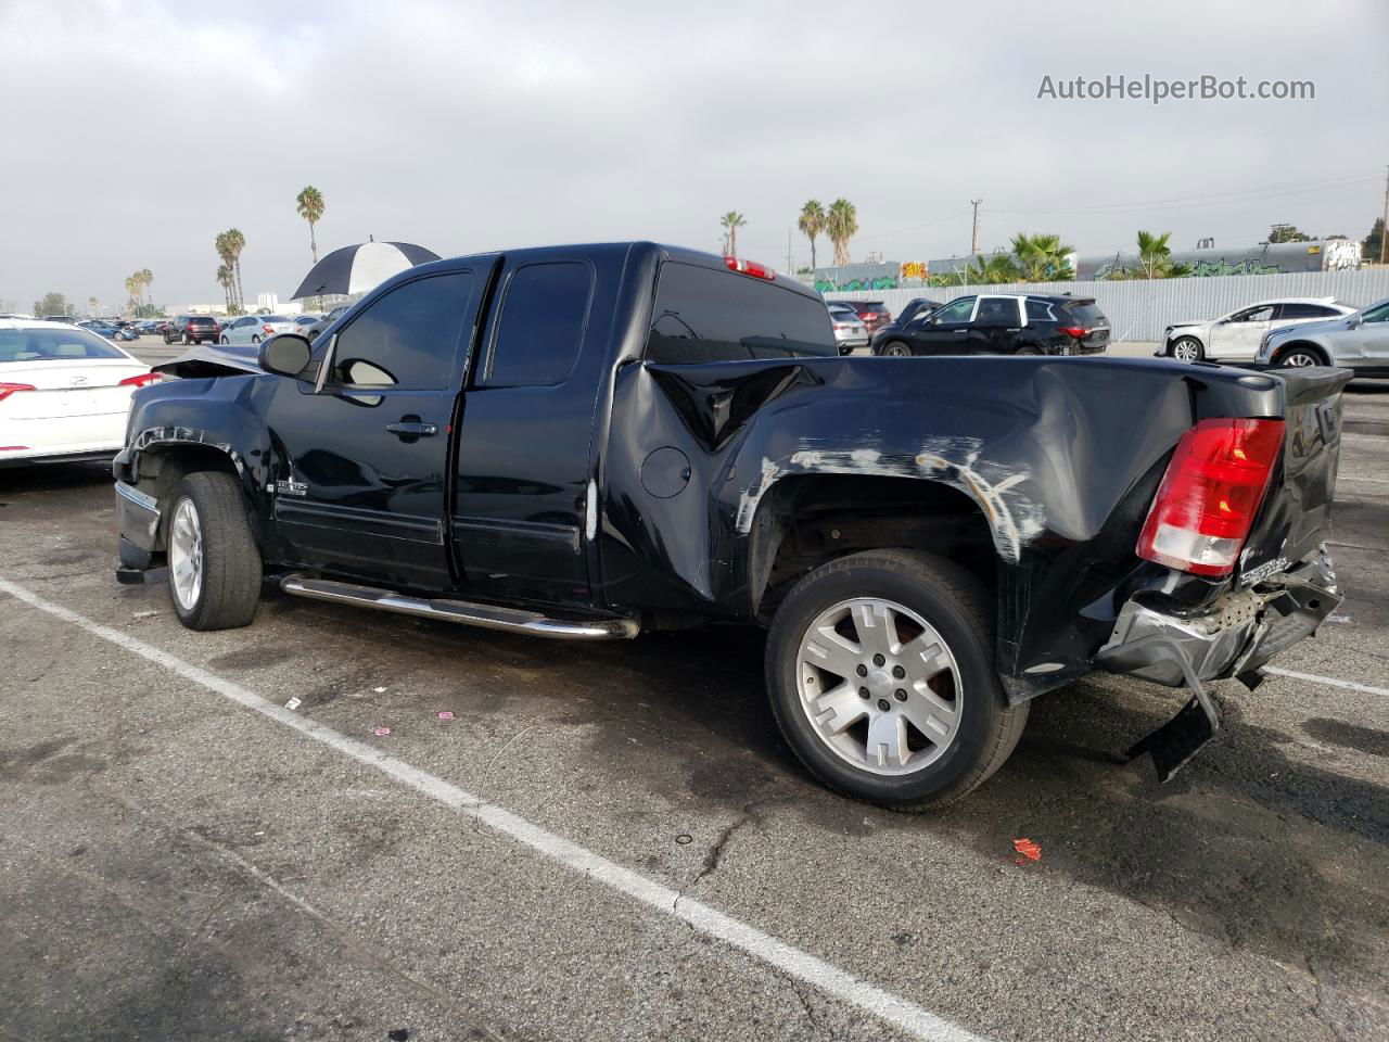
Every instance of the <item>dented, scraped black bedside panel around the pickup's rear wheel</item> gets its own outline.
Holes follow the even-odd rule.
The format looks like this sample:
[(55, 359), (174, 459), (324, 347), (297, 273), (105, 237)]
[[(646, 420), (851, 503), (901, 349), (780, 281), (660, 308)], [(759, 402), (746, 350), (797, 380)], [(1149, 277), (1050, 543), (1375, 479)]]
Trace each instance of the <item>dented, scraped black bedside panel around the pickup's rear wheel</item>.
[[(1200, 606), (1229, 586), (1140, 560), (1138, 534), (1174, 446), (1197, 420), (1282, 411), (1278, 378), (1168, 361), (625, 365), (604, 460), (604, 593), (619, 610), (753, 618), (750, 543), (776, 482), (942, 482), (988, 521), (999, 670), (1010, 696), (1028, 697), (1088, 672), (1139, 589)], [(667, 449), (678, 456), (657, 454)], [(654, 496), (646, 483), (663, 493), (672, 485), (650, 468), (669, 458), (688, 460), (688, 483)]]

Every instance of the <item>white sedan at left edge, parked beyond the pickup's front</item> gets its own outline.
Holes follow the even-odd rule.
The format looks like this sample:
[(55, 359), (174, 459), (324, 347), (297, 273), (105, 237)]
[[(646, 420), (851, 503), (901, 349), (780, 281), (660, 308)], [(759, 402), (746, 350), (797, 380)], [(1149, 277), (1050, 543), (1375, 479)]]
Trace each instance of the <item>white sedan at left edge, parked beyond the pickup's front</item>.
[(131, 395), (157, 379), (86, 329), (0, 320), (0, 467), (111, 458)]

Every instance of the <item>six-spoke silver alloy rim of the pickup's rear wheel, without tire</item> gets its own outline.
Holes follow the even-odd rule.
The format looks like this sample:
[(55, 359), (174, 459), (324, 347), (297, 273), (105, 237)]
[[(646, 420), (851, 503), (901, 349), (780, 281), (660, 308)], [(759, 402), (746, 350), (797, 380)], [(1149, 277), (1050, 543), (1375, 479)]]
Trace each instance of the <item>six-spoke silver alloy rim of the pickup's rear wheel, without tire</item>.
[(929, 622), (892, 600), (854, 597), (822, 611), (801, 636), (797, 667), (815, 736), (871, 774), (914, 774), (960, 729), (954, 656)]

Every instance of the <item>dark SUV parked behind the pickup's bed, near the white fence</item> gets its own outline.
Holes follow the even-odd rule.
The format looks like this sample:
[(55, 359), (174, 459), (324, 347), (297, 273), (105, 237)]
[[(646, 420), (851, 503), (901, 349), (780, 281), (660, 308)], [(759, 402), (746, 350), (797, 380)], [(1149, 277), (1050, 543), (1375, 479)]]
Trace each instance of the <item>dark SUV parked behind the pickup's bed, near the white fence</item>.
[(956, 297), (872, 339), (874, 354), (1097, 354), (1110, 321), (1088, 297), (1035, 293)]

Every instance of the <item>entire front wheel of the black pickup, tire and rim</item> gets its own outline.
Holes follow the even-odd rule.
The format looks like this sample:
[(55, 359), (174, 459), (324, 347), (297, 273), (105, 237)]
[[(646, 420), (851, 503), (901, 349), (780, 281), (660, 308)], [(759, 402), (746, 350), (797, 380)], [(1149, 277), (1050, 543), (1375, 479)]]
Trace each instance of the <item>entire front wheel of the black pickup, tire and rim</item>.
[(169, 599), (189, 629), (250, 625), (260, 602), (261, 559), (236, 478), (189, 474), (168, 513)]

